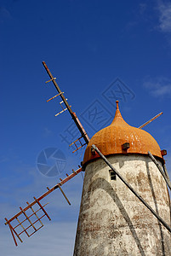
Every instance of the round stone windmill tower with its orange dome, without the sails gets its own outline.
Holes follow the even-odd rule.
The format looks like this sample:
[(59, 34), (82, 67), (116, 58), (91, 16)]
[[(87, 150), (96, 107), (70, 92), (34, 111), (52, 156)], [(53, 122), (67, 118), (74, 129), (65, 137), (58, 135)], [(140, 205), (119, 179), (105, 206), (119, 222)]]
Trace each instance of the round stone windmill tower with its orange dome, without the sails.
[[(106, 165), (92, 145), (111, 163)], [(74, 256), (171, 255), (166, 183), (148, 152), (164, 163), (161, 149), (149, 133), (128, 125), (118, 108), (111, 125), (98, 131), (85, 150), (85, 177)], [(155, 209), (154, 216), (116, 172)], [(135, 192), (136, 193), (136, 192)], [(159, 220), (159, 221), (158, 221)]]

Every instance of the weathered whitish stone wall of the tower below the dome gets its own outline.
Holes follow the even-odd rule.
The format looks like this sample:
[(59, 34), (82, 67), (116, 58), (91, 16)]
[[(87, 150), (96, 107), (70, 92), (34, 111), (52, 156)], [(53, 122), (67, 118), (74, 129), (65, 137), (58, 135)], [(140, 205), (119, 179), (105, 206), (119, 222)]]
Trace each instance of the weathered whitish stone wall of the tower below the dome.
[[(148, 156), (108, 157), (118, 172), (170, 224), (166, 183)], [(74, 256), (171, 255), (168, 230), (101, 159), (85, 170)]]

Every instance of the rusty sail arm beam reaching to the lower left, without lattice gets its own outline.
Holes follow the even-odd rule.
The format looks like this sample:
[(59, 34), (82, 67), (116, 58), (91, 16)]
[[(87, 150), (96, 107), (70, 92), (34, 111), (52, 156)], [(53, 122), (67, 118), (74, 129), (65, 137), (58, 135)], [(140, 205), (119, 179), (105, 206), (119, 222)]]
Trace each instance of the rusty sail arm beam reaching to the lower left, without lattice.
[[(43, 195), (39, 196), (39, 197), (37, 198), (37, 201), (41, 201), (45, 196), (47, 196), (48, 194), (52, 193), (52, 192), (54, 191), (54, 189), (58, 189), (59, 184), (60, 184), (60, 185), (63, 185), (64, 183), (66, 183), (67, 181), (69, 181), (72, 177), (75, 177), (79, 172), (82, 172), (82, 167), (80, 167), (79, 169), (77, 169), (77, 171), (72, 172), (68, 177), (64, 178), (60, 183), (57, 183), (56, 185), (54, 185), (53, 188), (49, 189), (49, 190), (48, 190), (47, 192), (45, 192)], [(23, 211), (26, 212), (26, 210), (28, 210), (30, 207), (34, 206), (34, 205), (37, 203), (37, 201), (32, 201), (32, 202), (30, 203), (30, 206), (25, 207), (25, 208), (23, 209)], [(14, 218), (19, 217), (20, 214), (22, 214), (21, 211), (18, 212), (17, 214), (15, 214), (14, 217), (12, 217), (12, 218), (10, 218), (8, 221), (6, 221), (5, 225), (7, 225), (7, 224), (9, 224), (9, 222), (13, 221)], [(6, 218), (5, 218), (5, 219), (6, 219)]]

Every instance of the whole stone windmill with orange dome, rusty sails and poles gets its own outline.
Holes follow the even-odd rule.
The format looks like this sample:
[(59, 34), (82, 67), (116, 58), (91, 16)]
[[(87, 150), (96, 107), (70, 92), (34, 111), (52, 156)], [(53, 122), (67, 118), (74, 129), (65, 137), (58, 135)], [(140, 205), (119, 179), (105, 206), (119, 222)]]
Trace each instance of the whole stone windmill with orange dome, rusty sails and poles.
[[(54, 78), (52, 73), (50, 73), (44, 61), (43, 67), (46, 69), (48, 76), (50, 78), (46, 83), (52, 82), (54, 84), (55, 89), (58, 92), (57, 95), (48, 99), (47, 102), (53, 100), (56, 97), (60, 97), (62, 100), (60, 102), (61, 110), (59, 113), (56, 113), (55, 116), (58, 116), (67, 110), (71, 114), (71, 119), (73, 119), (74, 123), (77, 125), (77, 129), (80, 131), (80, 137), (78, 137), (77, 140), (71, 143), (71, 145), (75, 145), (76, 147), (73, 153), (76, 152), (78, 149), (83, 148), (83, 146), (86, 144), (88, 144), (88, 146), (85, 150), (83, 166), (79, 166), (79, 168), (76, 171), (72, 170), (72, 173), (70, 175), (66, 173), (66, 178), (60, 179), (60, 183), (55, 184), (54, 187), (51, 189), (47, 187), (48, 191), (45, 192), (43, 195), (39, 196), (38, 198), (34, 197), (34, 201), (32, 201), (31, 203), (26, 202), (27, 206), (25, 208), (20, 207), (20, 212), (15, 214), (12, 218), (5, 218), (5, 224), (9, 224), (9, 230), (11, 231), (11, 234), (14, 238), (15, 245), (17, 246), (17, 238), (22, 242), (20, 236), (23, 233), (25, 233), (26, 236), (30, 237), (35, 232), (37, 232), (37, 230), (41, 229), (43, 227), (43, 217), (47, 217), (50, 220), (48, 212), (46, 212), (46, 210), (44, 209), (44, 207), (47, 204), (42, 205), (40, 202), (41, 200), (43, 200), (44, 197), (52, 193), (55, 189), (60, 189), (61, 193), (66, 198), (66, 201), (69, 204), (71, 204), (70, 201), (67, 199), (63, 189), (61, 189), (61, 186), (67, 181), (69, 181), (72, 177), (75, 177), (79, 172), (83, 171), (85, 171), (86, 176), (84, 177), (82, 203), (77, 225), (77, 237), (74, 250), (75, 256), (110, 255), (110, 253), (113, 253), (112, 255), (118, 255), (117, 253), (115, 254), (113, 252), (113, 249), (115, 248), (115, 252), (117, 252), (117, 250), (120, 250), (121, 247), (123, 253), (121, 253), (120, 255), (128, 255), (128, 252), (130, 250), (133, 251), (134, 247), (136, 247), (136, 249), (134, 249), (134, 252), (138, 252), (140, 253), (140, 255), (147, 255), (145, 253), (149, 253), (149, 250), (151, 250), (152, 252), (153, 247), (151, 246), (145, 249), (145, 241), (141, 242), (139, 236), (137, 235), (137, 229), (141, 229), (143, 232), (145, 232), (145, 228), (142, 226), (142, 224), (140, 224), (140, 216), (144, 216), (143, 214), (141, 214), (142, 211), (147, 211), (145, 212), (145, 214), (148, 214), (150, 218), (155, 218), (155, 225), (162, 224), (162, 226), (164, 227), (164, 231), (161, 231), (161, 226), (159, 231), (162, 232), (162, 235), (163, 232), (165, 232), (163, 237), (166, 237), (168, 245), (170, 245), (168, 241), (168, 233), (171, 233), (170, 224), (168, 224), (168, 215), (170, 213), (170, 201), (169, 195), (167, 194), (168, 190), (166, 184), (168, 188), (171, 189), (171, 183), (168, 177), (165, 162), (163, 160), (163, 156), (167, 154), (167, 152), (166, 150), (161, 151), (154, 138), (152, 138), (145, 131), (141, 130), (145, 125), (148, 125), (152, 120), (157, 119), (157, 117), (159, 117), (162, 113), (157, 114), (157, 116), (150, 119), (148, 122), (146, 122), (144, 125), (141, 125), (139, 128), (134, 128), (128, 125), (123, 120), (117, 102), (117, 111), (115, 119), (113, 120), (111, 125), (96, 133), (94, 137), (92, 137), (91, 140), (89, 140), (87, 132), (84, 130), (83, 125), (77, 118), (77, 114), (72, 111), (71, 105), (69, 105), (66, 97), (64, 96), (64, 92), (60, 90), (59, 85), (55, 81), (56, 78)], [(63, 107), (63, 104), (66, 106), (65, 108)], [(127, 161), (129, 163), (134, 162), (133, 166), (130, 165), (130, 168), (132, 169), (131, 172), (128, 172), (128, 164), (126, 166), (126, 169), (123, 168), (124, 165), (122, 163)], [(151, 181), (151, 177), (155, 177), (158, 180), (160, 180), (160, 182), (157, 183), (156, 187), (158, 186), (158, 188), (161, 189), (162, 196), (163, 198), (165, 198), (164, 203), (162, 202), (162, 205), (159, 205), (159, 208), (162, 208), (164, 212), (164, 214), (162, 214), (162, 217), (159, 214), (161, 213), (161, 209), (158, 209), (157, 201), (155, 201), (155, 211), (154, 206), (151, 207), (151, 201), (148, 200), (148, 196), (151, 195), (151, 188), (147, 189), (148, 192), (144, 192), (145, 199), (142, 196), (143, 194), (139, 193), (139, 191), (142, 192), (142, 188), (139, 188), (140, 184), (137, 187), (137, 189), (139, 190), (138, 192), (137, 189), (134, 188), (134, 185), (136, 183), (133, 182), (133, 173), (135, 165), (140, 168), (140, 171), (138, 172), (138, 174), (136, 174), (137, 177), (139, 177), (140, 174), (142, 176), (139, 177), (139, 180), (137, 179), (139, 183), (142, 183), (143, 179), (149, 182), (149, 180)], [(148, 168), (146, 167), (146, 169), (148, 169), (149, 173), (149, 170), (151, 170), (152, 172), (152, 174), (147, 173), (147, 177), (145, 177), (145, 165), (150, 165), (148, 166)], [(131, 178), (127, 177), (127, 174), (129, 174)], [(127, 178), (125, 178), (125, 175)], [(118, 193), (119, 196), (115, 194), (117, 191), (115, 191), (115, 189), (120, 189), (120, 192)], [(99, 191), (99, 195), (97, 191)], [(127, 196), (123, 195), (122, 191), (128, 193), (128, 199)], [(112, 201), (111, 199), (108, 198), (109, 195), (110, 198), (113, 197)], [(155, 196), (156, 191), (153, 188), (153, 199), (155, 198)], [(161, 198), (159, 198), (159, 200), (161, 201)], [(136, 202), (135, 204), (133, 203), (131, 211), (133, 215), (132, 217), (139, 218), (138, 221), (135, 219), (133, 222), (131, 216), (128, 215), (128, 212), (124, 205), (125, 201), (128, 201), (128, 203), (129, 201)], [(108, 209), (105, 202), (109, 202), (111, 210)], [(37, 206), (36, 209), (34, 208), (35, 206)], [(94, 208), (94, 206), (96, 208)], [(106, 207), (106, 209), (104, 206)], [(120, 212), (118, 212), (118, 209), (120, 210)], [(128, 208), (128, 211), (129, 210), (130, 209)], [(138, 215), (135, 216), (133, 214), (134, 211)], [(111, 216), (111, 212), (114, 212), (113, 216)], [(121, 218), (123, 218), (123, 220), (121, 220)], [(120, 225), (118, 224), (117, 226), (118, 219)], [(112, 234), (109, 234), (108, 230), (105, 230), (107, 227), (109, 228), (109, 224), (106, 224), (106, 220), (113, 229), (113, 231), (110, 231)], [(145, 223), (143, 222), (143, 224)], [(126, 229), (129, 230), (124, 230), (124, 232), (128, 234), (120, 234), (120, 227), (122, 225), (127, 226)], [(138, 225), (139, 227), (135, 229), (134, 225)], [(109, 228), (109, 230), (111, 230), (111, 227)], [(155, 231), (152, 232), (151, 237), (153, 242), (155, 243), (156, 241), (154, 238), (154, 234)], [(133, 237), (133, 239), (130, 239), (130, 237)], [(151, 237), (149, 238), (149, 240), (151, 239)], [(128, 239), (129, 241), (126, 242)], [(160, 240), (161, 237), (157, 239)], [(124, 245), (123, 241), (125, 243)], [(150, 241), (146, 241), (146, 244), (149, 243)], [(164, 245), (162, 241), (162, 249), (160, 250), (165, 250), (163, 249), (163, 247)], [(156, 254), (152, 252), (149, 255)], [(166, 253), (166, 255), (168, 254)]]

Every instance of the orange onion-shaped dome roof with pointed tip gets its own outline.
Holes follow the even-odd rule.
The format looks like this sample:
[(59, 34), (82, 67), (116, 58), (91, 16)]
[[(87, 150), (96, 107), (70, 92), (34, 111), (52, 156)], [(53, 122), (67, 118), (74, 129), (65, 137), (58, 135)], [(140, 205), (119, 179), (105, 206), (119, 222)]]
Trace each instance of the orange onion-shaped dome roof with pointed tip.
[[(122, 147), (124, 143), (129, 143), (130, 147), (127, 150)], [(98, 131), (90, 139), (85, 150), (83, 165), (89, 160), (100, 157), (97, 153), (92, 154), (91, 146), (93, 144), (105, 156), (109, 154), (148, 154), (148, 151), (150, 151), (151, 154), (162, 158), (157, 141), (148, 132), (130, 126), (123, 120), (118, 108), (118, 101), (115, 118), (111, 125)]]

